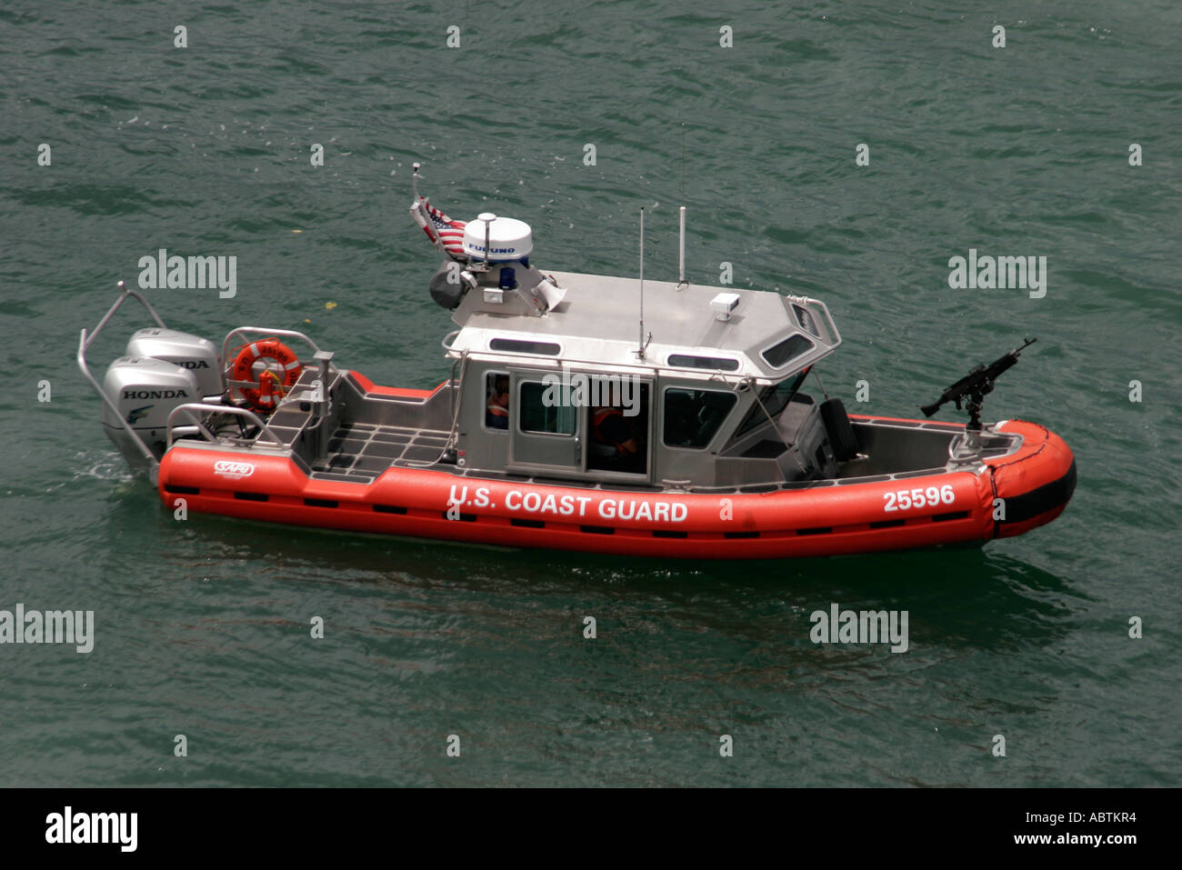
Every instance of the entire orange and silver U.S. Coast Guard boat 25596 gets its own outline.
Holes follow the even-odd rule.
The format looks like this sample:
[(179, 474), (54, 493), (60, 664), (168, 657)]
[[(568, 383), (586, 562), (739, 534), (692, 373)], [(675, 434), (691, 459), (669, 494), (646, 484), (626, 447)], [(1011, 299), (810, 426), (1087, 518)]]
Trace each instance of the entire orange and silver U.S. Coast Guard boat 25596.
[[(544, 273), (528, 225), (453, 221), (418, 195), (417, 168), (411, 213), (444, 257), (430, 293), (459, 327), (434, 389), (375, 384), (292, 330), (241, 326), (214, 345), (122, 283), (82, 331), (103, 428), (170, 509), (729, 559), (979, 545), (1070, 500), (1058, 435), (980, 421), (1020, 349), (923, 409), (965, 401), (967, 424), (849, 415), (804, 390), (842, 343), (824, 303), (683, 272), (645, 281), (643, 259), (639, 280)], [(152, 324), (99, 382), (86, 351), (132, 299)]]

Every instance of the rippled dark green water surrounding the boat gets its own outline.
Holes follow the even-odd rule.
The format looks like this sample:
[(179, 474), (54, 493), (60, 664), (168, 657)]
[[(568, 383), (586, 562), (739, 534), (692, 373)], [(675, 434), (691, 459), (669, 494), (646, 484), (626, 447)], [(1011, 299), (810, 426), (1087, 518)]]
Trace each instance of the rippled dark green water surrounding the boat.
[[(1177, 784), (1180, 25), (1164, 0), (7, 4), (0, 608), (90, 609), (96, 638), (0, 645), (0, 785)], [(647, 206), (673, 278), (684, 202), (690, 278), (824, 299), (825, 385), (863, 413), (1037, 336), (987, 417), (1061, 434), (1074, 499), (980, 551), (755, 564), (174, 521), (103, 437), (78, 330), (143, 255), (235, 255), (233, 299), (151, 291), (170, 326), (304, 329), (437, 383), (414, 161), (453, 216), (530, 221), (543, 268), (632, 274)], [(949, 288), (969, 248), (1045, 255), (1046, 296)], [(910, 648), (814, 645), (831, 603), (907, 610)]]

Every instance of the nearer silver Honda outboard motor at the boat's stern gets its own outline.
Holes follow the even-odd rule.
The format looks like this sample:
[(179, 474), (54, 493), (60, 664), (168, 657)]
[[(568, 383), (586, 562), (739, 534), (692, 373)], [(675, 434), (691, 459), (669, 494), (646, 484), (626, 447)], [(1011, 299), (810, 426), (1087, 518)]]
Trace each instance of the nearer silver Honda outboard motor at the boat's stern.
[(160, 459), (167, 447), (168, 415), (180, 404), (201, 401), (201, 385), (193, 371), (150, 357), (116, 359), (106, 369), (103, 392), (119, 411), (116, 416), (111, 407), (103, 403), (103, 431), (132, 468), (142, 467), (145, 460), (122, 421), (126, 421)]

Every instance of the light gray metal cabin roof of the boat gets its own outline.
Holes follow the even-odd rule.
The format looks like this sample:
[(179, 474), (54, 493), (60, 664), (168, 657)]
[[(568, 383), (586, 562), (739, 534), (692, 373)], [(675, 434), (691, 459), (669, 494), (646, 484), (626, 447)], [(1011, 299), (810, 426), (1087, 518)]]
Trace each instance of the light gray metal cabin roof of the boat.
[[(641, 291), (637, 278), (545, 272), (566, 296), (541, 316), (511, 313), (511, 306), (486, 301), (481, 288), (469, 291), (453, 319), (461, 326), (448, 345), (450, 356), (468, 351), (473, 357), (519, 358), (525, 362), (570, 362), (626, 366), (629, 369), (674, 369), (687, 374), (716, 375), (709, 365), (673, 356), (720, 357), (736, 366), (727, 376), (780, 381), (827, 356), (842, 338), (824, 303), (775, 292), (710, 287), (690, 284), (678, 290), (673, 281), (644, 281), (644, 332), (652, 335), (644, 358), (636, 356), (639, 338)], [(738, 305), (729, 320), (719, 320), (710, 300), (719, 293), (734, 293)], [(512, 311), (521, 311), (518, 306)], [(805, 311), (806, 314), (800, 312)], [(799, 336), (790, 346), (790, 358), (777, 368), (762, 352), (780, 342)], [(493, 340), (500, 338), (499, 348)], [(558, 344), (558, 355), (506, 350), (517, 342)]]

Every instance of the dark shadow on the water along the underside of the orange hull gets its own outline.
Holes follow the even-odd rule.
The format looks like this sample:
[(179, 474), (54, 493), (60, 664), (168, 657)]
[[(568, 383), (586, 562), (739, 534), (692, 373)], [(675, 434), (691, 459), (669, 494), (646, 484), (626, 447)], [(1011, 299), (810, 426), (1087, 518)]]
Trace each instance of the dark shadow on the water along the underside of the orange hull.
[[(150, 493), (145, 493), (150, 498)], [(173, 574), (214, 560), (266, 567), (294, 582), (410, 586), (422, 592), (595, 600), (617, 611), (675, 612), (709, 630), (807, 634), (808, 613), (907, 610), (913, 637), (967, 648), (1043, 647), (1077, 625), (1083, 598), (1064, 578), (995, 548), (937, 548), (781, 560), (673, 560), (392, 538), (225, 517), (173, 520), (129, 493), (115, 527), (160, 525), (154, 547)], [(753, 622), (754, 619), (754, 622)], [(801, 632), (801, 626), (804, 631)]]

